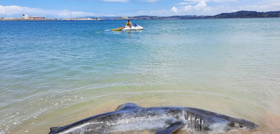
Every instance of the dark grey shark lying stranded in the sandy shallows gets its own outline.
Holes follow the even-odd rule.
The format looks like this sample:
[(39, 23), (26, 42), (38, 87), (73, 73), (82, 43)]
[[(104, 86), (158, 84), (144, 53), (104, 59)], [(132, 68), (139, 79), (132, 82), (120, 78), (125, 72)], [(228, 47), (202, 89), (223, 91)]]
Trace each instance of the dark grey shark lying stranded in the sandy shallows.
[(190, 131), (221, 133), (233, 129), (251, 130), (257, 124), (191, 107), (143, 108), (134, 103), (118, 106), (116, 111), (82, 119), (64, 127), (51, 127), (49, 134), (107, 134), (130, 130), (171, 134), (182, 126)]

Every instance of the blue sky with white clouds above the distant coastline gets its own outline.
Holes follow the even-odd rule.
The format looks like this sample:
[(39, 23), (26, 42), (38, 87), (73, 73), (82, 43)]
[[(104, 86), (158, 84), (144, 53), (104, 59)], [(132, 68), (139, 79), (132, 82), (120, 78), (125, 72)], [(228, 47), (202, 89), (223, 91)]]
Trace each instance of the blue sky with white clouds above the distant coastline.
[(240, 10), (280, 11), (280, 0), (0, 0), (1, 17), (46, 18), (139, 15), (217, 15)]

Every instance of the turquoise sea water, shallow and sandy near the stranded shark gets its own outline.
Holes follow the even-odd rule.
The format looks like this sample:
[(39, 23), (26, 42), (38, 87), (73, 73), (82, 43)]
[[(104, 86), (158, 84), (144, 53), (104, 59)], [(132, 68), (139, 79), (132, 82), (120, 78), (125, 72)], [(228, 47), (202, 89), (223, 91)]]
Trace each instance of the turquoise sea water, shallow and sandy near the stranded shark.
[(280, 131), (280, 18), (131, 21), (144, 30), (0, 21), (0, 134), (49, 133), (126, 102), (260, 125), (238, 133)]

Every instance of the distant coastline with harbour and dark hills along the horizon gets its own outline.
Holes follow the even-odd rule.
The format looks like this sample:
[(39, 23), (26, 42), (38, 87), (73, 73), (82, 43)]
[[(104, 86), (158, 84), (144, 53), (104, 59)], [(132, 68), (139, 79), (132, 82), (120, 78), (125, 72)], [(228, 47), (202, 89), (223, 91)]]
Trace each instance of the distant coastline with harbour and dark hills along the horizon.
[(257, 12), (257, 11), (238, 11), (234, 13), (221, 13), (214, 16), (197, 16), (197, 15), (182, 15), (182, 16), (135, 16), (135, 17), (80, 17), (80, 18), (45, 18), (45, 17), (31, 17), (23, 14), (22, 18), (0, 18), (0, 20), (160, 20), (160, 19), (205, 19), (205, 18), (275, 18), (280, 17), (280, 11)]

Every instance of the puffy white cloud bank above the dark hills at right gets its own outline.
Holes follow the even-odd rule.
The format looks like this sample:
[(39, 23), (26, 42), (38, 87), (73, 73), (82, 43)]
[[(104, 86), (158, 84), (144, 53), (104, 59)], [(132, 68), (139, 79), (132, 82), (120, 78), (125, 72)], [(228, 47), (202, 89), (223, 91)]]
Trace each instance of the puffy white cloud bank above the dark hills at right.
[[(261, 4), (256, 3), (254, 5), (248, 5), (243, 7), (233, 7), (232, 4), (228, 5), (225, 3), (225, 5), (221, 5), (221, 3), (218, 3), (216, 5), (209, 6), (206, 2), (210, 1), (222, 1), (222, 0), (197, 0), (195, 5), (187, 5), (187, 6), (180, 6), (180, 7), (173, 7), (170, 10), (142, 10), (141, 12), (138, 12), (142, 15), (149, 15), (150, 12), (153, 12), (153, 15), (156, 16), (173, 16), (173, 15), (218, 15), (220, 13), (231, 13), (236, 12), (240, 10), (249, 10), (249, 11), (258, 11), (258, 12), (267, 12), (267, 11), (279, 11), (280, 9), (280, 2), (270, 3), (270, 4)], [(235, 1), (235, 0), (223, 0), (223, 2), (229, 2), (229, 1)], [(273, 0), (271, 0), (273, 1)], [(193, 1), (186, 1), (193, 2)], [(184, 3), (184, 4), (186, 4)], [(184, 5), (182, 4), (182, 5)]]

